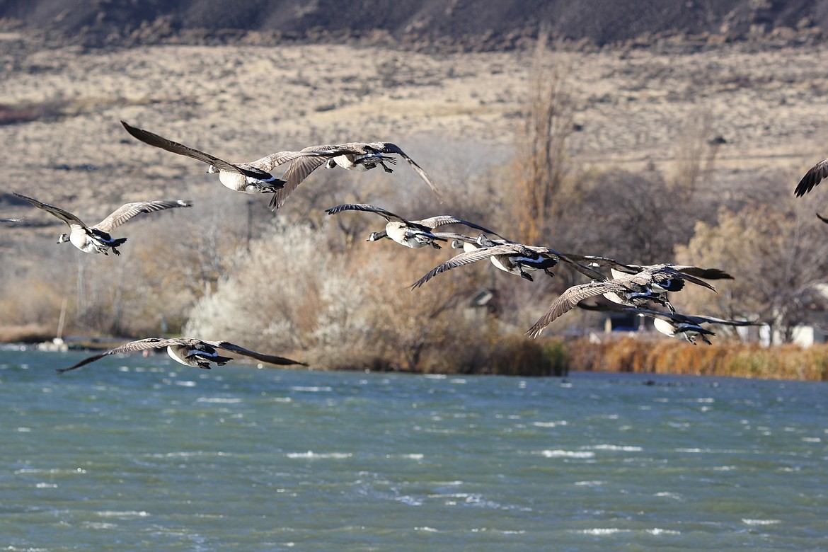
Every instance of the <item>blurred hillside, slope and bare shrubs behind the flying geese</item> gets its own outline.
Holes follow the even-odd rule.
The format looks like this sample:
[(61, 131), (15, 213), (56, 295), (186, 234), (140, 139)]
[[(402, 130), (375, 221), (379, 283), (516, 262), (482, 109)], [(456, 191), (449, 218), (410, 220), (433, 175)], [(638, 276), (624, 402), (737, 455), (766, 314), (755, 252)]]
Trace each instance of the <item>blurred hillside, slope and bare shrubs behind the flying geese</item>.
[[(806, 0), (0, 1), (0, 218), (24, 218), (0, 228), (0, 340), (62, 318), (67, 337), (184, 333), (320, 367), (480, 372), (520, 352), (545, 373), (561, 338), (600, 339), (606, 314), (580, 310), (523, 337), (583, 281), (564, 268), (480, 262), (409, 290), (455, 252), (366, 242), (382, 218), (324, 212), (352, 202), (715, 266), (734, 281), (682, 291), (681, 312), (824, 340), (828, 199), (793, 188), (828, 155), (826, 17)], [(320, 168), (272, 213), (122, 119), (228, 161), (394, 142), (442, 202), (403, 162)], [(12, 192), (89, 224), (138, 199), (195, 207), (118, 228), (123, 255), (103, 257), (55, 244), (65, 225)]]

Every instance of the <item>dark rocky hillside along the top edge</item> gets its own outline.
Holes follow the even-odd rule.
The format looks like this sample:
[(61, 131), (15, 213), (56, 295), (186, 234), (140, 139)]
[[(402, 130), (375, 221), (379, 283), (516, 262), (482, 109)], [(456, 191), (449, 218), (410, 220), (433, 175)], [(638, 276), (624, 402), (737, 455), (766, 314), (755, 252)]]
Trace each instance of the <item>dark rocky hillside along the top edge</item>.
[(359, 40), (503, 50), (541, 26), (598, 46), (665, 33), (812, 40), (828, 27), (828, 0), (0, 0), (0, 18), (89, 46)]

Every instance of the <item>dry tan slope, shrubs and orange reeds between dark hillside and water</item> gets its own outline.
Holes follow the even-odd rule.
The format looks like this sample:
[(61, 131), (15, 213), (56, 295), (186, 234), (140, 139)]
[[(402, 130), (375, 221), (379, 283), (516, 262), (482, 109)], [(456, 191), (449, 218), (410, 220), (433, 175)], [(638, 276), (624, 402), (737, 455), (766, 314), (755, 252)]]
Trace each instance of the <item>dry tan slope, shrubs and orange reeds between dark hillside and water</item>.
[[(185, 332), (331, 368), (541, 375), (601, 362), (712, 373), (700, 368), (711, 351), (742, 350), (722, 336), (710, 348), (647, 342), (628, 354), (621, 345), (589, 353), (529, 341), (525, 329), (579, 276), (556, 269), (555, 278), (530, 283), (481, 262), (412, 291), (453, 252), (365, 242), (383, 220), (324, 214), (346, 202), (410, 218), (455, 214), (565, 252), (717, 266), (736, 281), (717, 284), (719, 294), (682, 292), (676, 305), (759, 317), (781, 338), (821, 307), (814, 290), (828, 275), (826, 227), (812, 216), (823, 210), (815, 207), (821, 191), (794, 202), (792, 189), (825, 154), (828, 126), (818, 114), (828, 108), (828, 79), (805, 68), (824, 64), (826, 48), (14, 52), (0, 75), (0, 104), (12, 106), (10, 124), (0, 125), (0, 216), (51, 222), (14, 203), (11, 191), (90, 223), (135, 199), (193, 199), (195, 207), (118, 228), (129, 241), (117, 258), (55, 245), (63, 232), (56, 220), (2, 228), (7, 332), (54, 327), (67, 298), (70, 334)], [(311, 143), (390, 140), (434, 177), (445, 202), (407, 166), (393, 175), (320, 169), (274, 215), (266, 198), (225, 190), (198, 162), (132, 140), (119, 119), (230, 161)], [(496, 291), (496, 315), (469, 307), (482, 289)], [(577, 334), (595, 320), (573, 311), (546, 332)], [(670, 356), (672, 348), (684, 353)], [(821, 373), (816, 353), (794, 355), (811, 362), (797, 372), (773, 364), (781, 362), (775, 353), (766, 360), (745, 350), (753, 360), (743, 365), (773, 367), (762, 374)], [(730, 365), (750, 372), (716, 362), (715, 373)]]

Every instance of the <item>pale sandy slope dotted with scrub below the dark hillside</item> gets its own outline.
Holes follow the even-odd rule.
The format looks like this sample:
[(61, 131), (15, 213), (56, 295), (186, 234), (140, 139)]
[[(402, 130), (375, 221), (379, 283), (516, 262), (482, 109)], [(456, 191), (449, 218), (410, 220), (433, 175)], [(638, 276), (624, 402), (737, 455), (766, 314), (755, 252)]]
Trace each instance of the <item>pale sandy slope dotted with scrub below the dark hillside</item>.
[[(349, 46), (152, 46), (31, 51), (0, 36), (0, 104), (63, 113), (0, 126), (2, 191), (84, 204), (157, 195), (198, 162), (140, 144), (119, 119), (231, 161), (312, 143), (384, 139), (426, 169), (453, 144), (511, 146), (531, 55), (431, 57)], [(12, 48), (11, 46), (16, 46)], [(572, 153), (586, 164), (670, 161), (686, 122), (713, 114), (723, 183), (779, 168), (795, 178), (828, 154), (828, 47), (723, 46), (561, 53), (577, 105)], [(417, 154), (420, 154), (419, 156)], [(449, 154), (450, 156), (450, 154)], [(66, 170), (92, 166), (96, 170)], [(794, 182), (786, 182), (792, 190)], [(785, 186), (781, 186), (785, 188)], [(787, 189), (787, 188), (785, 188)], [(0, 203), (2, 216), (20, 209)]]

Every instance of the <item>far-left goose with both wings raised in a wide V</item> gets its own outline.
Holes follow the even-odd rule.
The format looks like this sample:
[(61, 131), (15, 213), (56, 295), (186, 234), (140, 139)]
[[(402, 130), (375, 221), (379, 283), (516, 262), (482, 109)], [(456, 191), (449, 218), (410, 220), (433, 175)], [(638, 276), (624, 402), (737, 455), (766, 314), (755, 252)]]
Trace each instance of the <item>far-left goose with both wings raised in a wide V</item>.
[(161, 211), (163, 209), (172, 209), (175, 207), (190, 207), (190, 201), (137, 201), (135, 203), (123, 204), (118, 209), (104, 218), (101, 222), (94, 226), (87, 226), (80, 218), (63, 209), (53, 205), (41, 203), (37, 199), (28, 198), (25, 195), (17, 194), (18, 198), (28, 201), (37, 209), (43, 209), (46, 213), (55, 215), (63, 222), (67, 223), (70, 228), (68, 234), (60, 234), (57, 238), (58, 243), (71, 242), (84, 253), (103, 253), (108, 255), (108, 250), (111, 249), (116, 255), (121, 252), (116, 249), (127, 241), (127, 238), (113, 238), (109, 235), (114, 228), (127, 222), (130, 218), (142, 213), (152, 213), (153, 211)]

